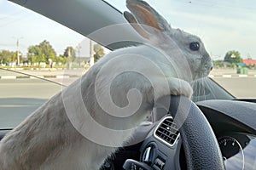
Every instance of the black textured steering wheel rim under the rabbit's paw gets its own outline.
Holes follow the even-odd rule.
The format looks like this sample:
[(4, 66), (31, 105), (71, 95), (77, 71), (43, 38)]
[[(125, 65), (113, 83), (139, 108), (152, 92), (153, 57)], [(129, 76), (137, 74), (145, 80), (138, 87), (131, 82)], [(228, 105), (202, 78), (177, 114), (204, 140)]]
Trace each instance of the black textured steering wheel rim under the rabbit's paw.
[[(189, 170), (224, 168), (218, 141), (207, 118), (193, 101), (184, 96), (166, 96), (171, 101), (169, 112), (179, 127), (180, 138)], [(207, 138), (206, 138), (207, 137)]]

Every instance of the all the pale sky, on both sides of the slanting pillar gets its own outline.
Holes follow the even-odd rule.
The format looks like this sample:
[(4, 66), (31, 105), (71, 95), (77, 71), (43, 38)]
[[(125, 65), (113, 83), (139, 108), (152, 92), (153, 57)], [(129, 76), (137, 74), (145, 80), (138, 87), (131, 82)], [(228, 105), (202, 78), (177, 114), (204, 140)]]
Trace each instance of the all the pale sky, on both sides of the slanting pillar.
[[(120, 11), (125, 0), (107, 0)], [(212, 59), (224, 59), (224, 54), (237, 50), (243, 59), (256, 59), (256, 1), (255, 0), (147, 0), (173, 28), (180, 28), (201, 37)], [(88, 54), (88, 39), (26, 8), (0, 0), (0, 50), (16, 50), (26, 54), (30, 45), (48, 40), (57, 54), (67, 46), (82, 45)], [(39, 32), (39, 33), (38, 33)]]

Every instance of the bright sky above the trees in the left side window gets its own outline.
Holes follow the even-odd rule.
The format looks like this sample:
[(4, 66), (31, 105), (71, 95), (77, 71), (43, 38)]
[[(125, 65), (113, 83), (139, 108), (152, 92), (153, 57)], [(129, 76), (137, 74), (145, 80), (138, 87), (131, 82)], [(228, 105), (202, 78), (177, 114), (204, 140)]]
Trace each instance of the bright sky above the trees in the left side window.
[(23, 55), (26, 55), (29, 46), (44, 40), (49, 41), (57, 54), (63, 54), (68, 46), (76, 48), (79, 43), (84, 48), (81, 50), (87, 51), (84, 54), (89, 54), (86, 37), (29, 9), (0, 0), (0, 50), (15, 51), (18, 39)]

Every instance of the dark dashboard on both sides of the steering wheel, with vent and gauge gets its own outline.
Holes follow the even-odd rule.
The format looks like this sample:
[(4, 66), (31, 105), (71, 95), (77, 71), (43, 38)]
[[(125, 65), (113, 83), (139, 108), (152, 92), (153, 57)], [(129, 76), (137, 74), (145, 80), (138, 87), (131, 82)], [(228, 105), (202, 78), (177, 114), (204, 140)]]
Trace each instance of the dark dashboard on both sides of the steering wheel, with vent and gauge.
[[(227, 170), (255, 169), (256, 104), (216, 99), (197, 102), (196, 105), (207, 117), (218, 139), (225, 168)], [(170, 114), (164, 116), (159, 122), (155, 122), (154, 128), (148, 133), (148, 138), (140, 147), (139, 161), (129, 161), (130, 165), (142, 170), (167, 170), (173, 167), (187, 169), (183, 144)], [(128, 162), (125, 161), (126, 164), (129, 164)], [(127, 167), (126, 164), (124, 167)]]

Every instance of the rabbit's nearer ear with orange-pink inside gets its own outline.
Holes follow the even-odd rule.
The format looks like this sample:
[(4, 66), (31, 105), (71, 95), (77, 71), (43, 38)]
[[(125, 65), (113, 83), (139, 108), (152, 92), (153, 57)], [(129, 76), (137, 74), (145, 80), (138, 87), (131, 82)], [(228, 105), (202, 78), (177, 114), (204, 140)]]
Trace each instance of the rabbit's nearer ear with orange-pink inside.
[(148, 3), (142, 0), (126, 0), (126, 6), (142, 26), (150, 26), (158, 31), (169, 31), (171, 29), (167, 21), (154, 8), (150, 7)]

